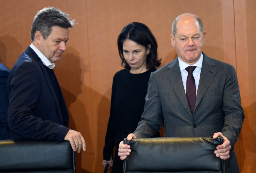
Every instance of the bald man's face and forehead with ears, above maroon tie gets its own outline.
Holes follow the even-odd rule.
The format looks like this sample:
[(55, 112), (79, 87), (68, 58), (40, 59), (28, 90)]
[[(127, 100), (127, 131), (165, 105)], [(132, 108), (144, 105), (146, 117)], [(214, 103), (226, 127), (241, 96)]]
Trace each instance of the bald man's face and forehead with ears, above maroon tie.
[(171, 35), (172, 46), (179, 58), (190, 65), (195, 64), (202, 53), (205, 33), (201, 33), (197, 20), (192, 16), (183, 16), (177, 22), (175, 37)]

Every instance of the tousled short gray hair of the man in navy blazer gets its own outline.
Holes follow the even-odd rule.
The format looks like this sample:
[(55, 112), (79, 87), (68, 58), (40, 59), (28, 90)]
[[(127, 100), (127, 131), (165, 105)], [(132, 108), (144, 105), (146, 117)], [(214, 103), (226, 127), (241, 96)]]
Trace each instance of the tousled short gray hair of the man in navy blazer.
[(35, 39), (36, 31), (40, 31), (44, 40), (51, 34), (53, 26), (59, 26), (61, 28), (74, 27), (75, 20), (69, 20), (68, 14), (53, 7), (43, 8), (38, 11), (34, 17), (31, 26), (31, 40)]

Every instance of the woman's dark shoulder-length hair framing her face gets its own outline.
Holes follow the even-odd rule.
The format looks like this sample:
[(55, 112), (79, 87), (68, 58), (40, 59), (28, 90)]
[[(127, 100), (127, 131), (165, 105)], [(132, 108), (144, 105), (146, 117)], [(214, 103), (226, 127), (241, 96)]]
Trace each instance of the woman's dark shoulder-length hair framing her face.
[(122, 32), (119, 34), (117, 39), (118, 52), (122, 60), (121, 66), (124, 64), (124, 68), (131, 69), (128, 63), (124, 59), (123, 55), (123, 43), (126, 39), (132, 40), (140, 45), (147, 46), (150, 44), (150, 53), (146, 58), (146, 68), (150, 69), (152, 66), (159, 67), (161, 64), (161, 59), (157, 60), (157, 42), (150, 29), (139, 22), (132, 22), (124, 27)]

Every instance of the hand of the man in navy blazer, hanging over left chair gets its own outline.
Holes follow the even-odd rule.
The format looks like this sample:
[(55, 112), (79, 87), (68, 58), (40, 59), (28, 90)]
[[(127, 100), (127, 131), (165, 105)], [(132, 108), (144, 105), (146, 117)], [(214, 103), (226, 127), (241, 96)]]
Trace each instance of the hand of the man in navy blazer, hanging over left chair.
[(64, 140), (68, 140), (72, 149), (78, 153), (80, 153), (82, 148), (84, 151), (86, 150), (84, 137), (78, 131), (69, 129)]

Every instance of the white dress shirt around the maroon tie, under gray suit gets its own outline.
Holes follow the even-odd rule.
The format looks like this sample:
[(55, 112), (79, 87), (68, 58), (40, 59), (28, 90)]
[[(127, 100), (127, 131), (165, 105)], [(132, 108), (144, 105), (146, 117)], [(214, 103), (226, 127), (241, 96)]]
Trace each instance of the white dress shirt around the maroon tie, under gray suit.
[[(203, 64), (203, 54), (201, 54), (201, 57), (199, 58), (199, 60), (194, 65), (192, 65), (192, 66), (196, 66), (195, 70), (193, 71), (193, 76), (194, 76), (195, 83), (196, 83), (196, 94), (197, 94), (197, 88), (198, 88), (198, 84), (199, 84), (202, 64)], [(186, 68), (188, 66), (191, 66), (191, 65), (186, 64), (185, 62), (181, 61), (181, 59), (179, 57), (179, 66), (180, 66), (182, 83), (183, 83), (183, 86), (184, 86), (184, 89), (185, 89), (185, 93), (187, 94), (188, 72), (186, 71)]]

